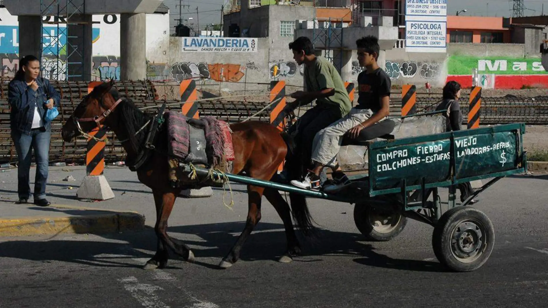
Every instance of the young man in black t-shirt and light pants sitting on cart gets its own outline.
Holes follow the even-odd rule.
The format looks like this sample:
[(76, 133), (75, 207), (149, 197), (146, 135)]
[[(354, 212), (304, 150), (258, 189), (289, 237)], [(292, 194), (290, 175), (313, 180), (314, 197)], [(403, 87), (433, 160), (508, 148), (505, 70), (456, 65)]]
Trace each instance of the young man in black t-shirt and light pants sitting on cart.
[[(358, 75), (358, 105), (352, 108), (344, 118), (319, 131), (312, 146), (312, 160), (315, 162), (315, 167), (311, 170), (309, 177), (319, 182), (322, 169), (332, 168), (333, 184), (324, 188), (324, 191), (329, 193), (337, 192), (350, 184), (349, 178), (336, 163), (343, 136), (349, 134), (350, 138), (355, 139), (362, 129), (383, 121), (390, 113), (391, 82), (390, 77), (376, 62), (380, 52), (378, 38), (366, 36), (358, 39), (356, 45), (359, 64), (367, 69)], [(321, 188), (319, 185), (310, 187), (310, 184), (304, 181), (291, 183), (303, 189)]]

